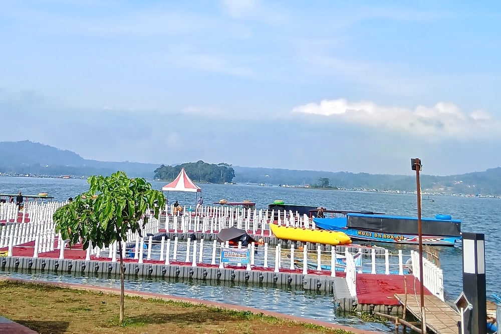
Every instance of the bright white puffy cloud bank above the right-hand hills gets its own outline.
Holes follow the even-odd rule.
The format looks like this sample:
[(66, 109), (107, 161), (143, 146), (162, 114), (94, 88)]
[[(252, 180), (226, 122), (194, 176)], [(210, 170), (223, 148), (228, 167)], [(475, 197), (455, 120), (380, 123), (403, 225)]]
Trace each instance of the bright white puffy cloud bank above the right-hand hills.
[(345, 99), (323, 100), (295, 107), (293, 113), (327, 116), (346, 124), (415, 134), (427, 140), (499, 138), (501, 122), (488, 113), (462, 111), (458, 106), (438, 102), (433, 107), (415, 109), (379, 106), (374, 102), (349, 102)]

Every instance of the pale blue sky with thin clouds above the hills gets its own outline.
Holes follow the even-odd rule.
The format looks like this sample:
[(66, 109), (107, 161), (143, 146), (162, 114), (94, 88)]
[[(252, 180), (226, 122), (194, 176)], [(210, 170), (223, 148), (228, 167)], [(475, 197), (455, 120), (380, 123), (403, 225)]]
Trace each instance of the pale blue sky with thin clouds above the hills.
[(0, 140), (84, 158), (501, 166), (496, 2), (0, 2)]

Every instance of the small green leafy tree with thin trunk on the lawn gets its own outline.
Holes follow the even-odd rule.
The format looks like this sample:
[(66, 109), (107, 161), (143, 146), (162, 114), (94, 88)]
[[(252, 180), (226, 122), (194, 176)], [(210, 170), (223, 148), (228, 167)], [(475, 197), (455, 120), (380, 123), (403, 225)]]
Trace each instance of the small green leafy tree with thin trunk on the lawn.
[(142, 178), (130, 179), (124, 172), (111, 176), (91, 176), (89, 191), (75, 198), (54, 213), (56, 231), (63, 240), (73, 245), (82, 242), (87, 249), (90, 244), (102, 248), (117, 241), (120, 252), (120, 317), (124, 319), (124, 263), (122, 241), (127, 241), (127, 231), (139, 232), (147, 222), (143, 218), (148, 208), (158, 218), (165, 205), (162, 192), (151, 189), (151, 184)]

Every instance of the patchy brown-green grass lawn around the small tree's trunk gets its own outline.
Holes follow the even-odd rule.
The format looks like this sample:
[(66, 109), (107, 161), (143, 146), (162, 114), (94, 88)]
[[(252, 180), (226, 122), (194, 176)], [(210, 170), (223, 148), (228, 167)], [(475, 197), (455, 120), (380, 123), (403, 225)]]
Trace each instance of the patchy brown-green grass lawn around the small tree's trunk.
[(139, 297), (125, 297), (124, 326), (118, 325), (118, 311), (117, 295), (0, 281), (0, 314), (41, 334), (350, 333), (246, 311)]

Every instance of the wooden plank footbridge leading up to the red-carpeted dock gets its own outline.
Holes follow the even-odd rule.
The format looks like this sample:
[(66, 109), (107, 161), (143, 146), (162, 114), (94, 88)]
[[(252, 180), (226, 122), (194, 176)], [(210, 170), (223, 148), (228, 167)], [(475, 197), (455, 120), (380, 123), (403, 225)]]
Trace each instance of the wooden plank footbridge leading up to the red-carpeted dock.
[[(403, 305), (404, 294), (395, 294), (395, 298)], [(421, 301), (413, 294), (407, 294), (407, 309), (421, 320)], [(424, 296), (424, 308), (426, 312), (426, 327), (437, 334), (457, 334), (457, 321), (459, 314), (445, 302), (433, 295)]]

